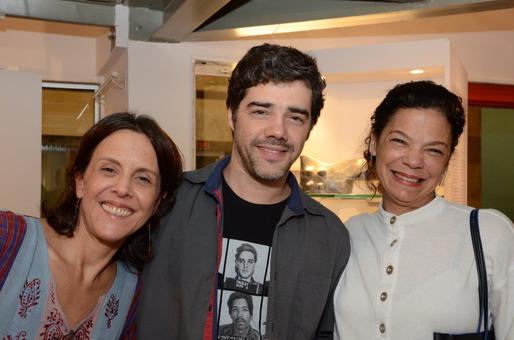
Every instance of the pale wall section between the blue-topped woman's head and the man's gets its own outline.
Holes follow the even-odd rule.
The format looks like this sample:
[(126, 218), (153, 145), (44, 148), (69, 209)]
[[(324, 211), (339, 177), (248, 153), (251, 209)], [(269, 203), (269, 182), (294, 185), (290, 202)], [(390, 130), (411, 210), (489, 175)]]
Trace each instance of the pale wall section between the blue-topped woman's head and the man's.
[[(129, 44), (129, 109), (154, 117), (194, 164), (195, 59), (237, 61), (252, 42)], [(228, 127), (227, 127), (228, 128)]]

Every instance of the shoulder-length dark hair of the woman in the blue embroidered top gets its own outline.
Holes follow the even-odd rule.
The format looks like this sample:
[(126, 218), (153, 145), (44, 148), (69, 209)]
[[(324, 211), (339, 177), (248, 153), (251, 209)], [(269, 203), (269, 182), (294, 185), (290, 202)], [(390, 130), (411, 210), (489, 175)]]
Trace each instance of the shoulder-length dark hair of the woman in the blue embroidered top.
[(147, 228), (150, 228), (152, 233), (155, 232), (160, 218), (171, 210), (182, 177), (182, 155), (171, 138), (152, 118), (126, 112), (114, 113), (91, 127), (82, 137), (77, 156), (66, 172), (64, 192), (55, 206), (43, 205), (42, 215), (57, 233), (73, 237), (78, 222), (76, 210), (80, 204), (75, 194), (75, 176), (85, 173), (98, 144), (119, 130), (142, 133), (150, 140), (157, 156), (161, 176), (160, 202), (155, 213), (139, 230), (128, 237), (114, 257), (115, 260), (141, 271), (144, 264), (152, 258)]

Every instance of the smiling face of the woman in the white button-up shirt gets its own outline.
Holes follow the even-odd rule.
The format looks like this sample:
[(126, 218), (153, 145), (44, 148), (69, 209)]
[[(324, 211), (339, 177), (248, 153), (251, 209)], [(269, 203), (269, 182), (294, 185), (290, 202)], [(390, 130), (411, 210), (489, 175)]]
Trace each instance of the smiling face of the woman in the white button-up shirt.
[(450, 160), (450, 136), (446, 118), (432, 108), (399, 109), (373, 136), (384, 209), (402, 214), (434, 199)]

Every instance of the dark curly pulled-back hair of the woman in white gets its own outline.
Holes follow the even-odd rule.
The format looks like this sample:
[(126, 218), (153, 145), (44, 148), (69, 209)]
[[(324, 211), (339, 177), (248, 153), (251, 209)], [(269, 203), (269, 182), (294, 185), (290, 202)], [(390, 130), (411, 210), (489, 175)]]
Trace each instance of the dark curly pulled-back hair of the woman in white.
[(430, 80), (411, 81), (396, 85), (387, 93), (371, 116), (371, 131), (365, 140), (364, 178), (375, 193), (378, 188), (373, 181), (377, 180), (378, 176), (376, 157), (371, 154), (372, 137), (374, 136), (378, 143), (382, 131), (396, 112), (400, 109), (411, 108), (434, 109), (446, 117), (452, 133), (450, 154), (453, 153), (459, 142), (466, 120), (462, 99), (459, 96)]

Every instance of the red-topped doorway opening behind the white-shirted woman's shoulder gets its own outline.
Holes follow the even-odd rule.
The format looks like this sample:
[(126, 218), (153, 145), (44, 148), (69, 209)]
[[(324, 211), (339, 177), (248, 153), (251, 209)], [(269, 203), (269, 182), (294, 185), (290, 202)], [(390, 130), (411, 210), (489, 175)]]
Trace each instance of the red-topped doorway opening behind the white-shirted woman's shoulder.
[(468, 204), (514, 219), (514, 85), (468, 90)]

